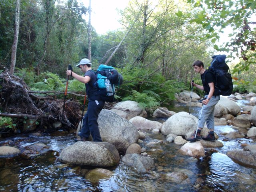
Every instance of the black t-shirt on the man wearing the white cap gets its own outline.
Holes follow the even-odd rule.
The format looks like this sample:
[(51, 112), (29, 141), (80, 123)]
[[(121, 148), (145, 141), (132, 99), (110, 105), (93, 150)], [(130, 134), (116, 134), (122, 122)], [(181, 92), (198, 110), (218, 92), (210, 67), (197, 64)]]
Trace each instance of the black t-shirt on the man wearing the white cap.
[(93, 70), (88, 70), (84, 74), (84, 76), (89, 76), (90, 81), (85, 84), (86, 94), (88, 95), (89, 100), (101, 100), (100, 96), (96, 94), (96, 90), (94, 89), (94, 83), (96, 82), (96, 74)]

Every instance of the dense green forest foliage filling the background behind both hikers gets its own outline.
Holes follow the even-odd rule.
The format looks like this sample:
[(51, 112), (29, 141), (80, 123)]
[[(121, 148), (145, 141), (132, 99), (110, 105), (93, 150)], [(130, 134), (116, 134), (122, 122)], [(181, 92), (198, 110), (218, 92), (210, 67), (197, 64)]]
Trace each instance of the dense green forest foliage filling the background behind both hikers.
[[(0, 70), (10, 66), (15, 7), (15, 0), (0, 2)], [(255, 30), (251, 26), (255, 23), (249, 20), (254, 9), (252, 0), (130, 0), (120, 10), (124, 28), (105, 35), (92, 30), (93, 69), (106, 62), (124, 38), (108, 63), (124, 76), (118, 99), (136, 100), (145, 108), (170, 103), (175, 92), (189, 90), (190, 80), (200, 83), (192, 63), (200, 59), (208, 66), (214, 54), (212, 48), (220, 50), (215, 44), (218, 30), (234, 26), (238, 28), (232, 31), (234, 41), (227, 42), (223, 50), (229, 49), (231, 53), (232, 49), (234, 54), (241, 50), (242, 57), (247, 59), (232, 68), (238, 84), (243, 83), (241, 79), (248, 82), (246, 79), (252, 80), (250, 64), (255, 63)], [(74, 66), (87, 57), (86, 14), (86, 5), (77, 0), (21, 1), (15, 73), (32, 90), (65, 90), (68, 64)], [(241, 67), (249, 72), (238, 70)], [(73, 69), (80, 73), (78, 68)], [(251, 84), (255, 82), (252, 80)], [(69, 91), (84, 93), (84, 85), (70, 78)]]

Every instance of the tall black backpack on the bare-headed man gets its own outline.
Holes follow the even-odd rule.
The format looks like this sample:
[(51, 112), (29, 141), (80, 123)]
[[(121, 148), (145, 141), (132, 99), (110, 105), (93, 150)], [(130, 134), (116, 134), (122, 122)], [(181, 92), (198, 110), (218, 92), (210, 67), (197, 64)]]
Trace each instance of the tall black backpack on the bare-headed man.
[(226, 64), (226, 55), (212, 56), (212, 62), (207, 71), (215, 76), (215, 95), (229, 96), (233, 92), (233, 82), (228, 65)]

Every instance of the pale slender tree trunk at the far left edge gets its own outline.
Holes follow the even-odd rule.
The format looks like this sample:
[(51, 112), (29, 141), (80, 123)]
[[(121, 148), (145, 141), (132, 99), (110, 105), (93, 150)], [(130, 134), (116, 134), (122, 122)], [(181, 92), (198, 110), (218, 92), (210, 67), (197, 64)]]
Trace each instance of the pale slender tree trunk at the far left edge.
[(18, 45), (18, 38), (19, 38), (19, 30), (20, 30), (20, 0), (16, 0), (14, 40), (13, 40), (13, 44), (12, 44), (12, 56), (11, 56), (10, 74), (13, 74), (14, 73), (14, 69), (15, 69), (17, 45)]

